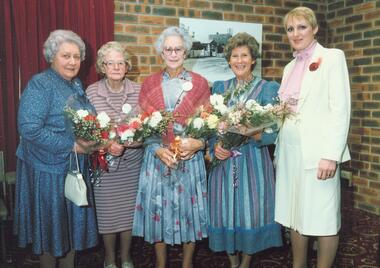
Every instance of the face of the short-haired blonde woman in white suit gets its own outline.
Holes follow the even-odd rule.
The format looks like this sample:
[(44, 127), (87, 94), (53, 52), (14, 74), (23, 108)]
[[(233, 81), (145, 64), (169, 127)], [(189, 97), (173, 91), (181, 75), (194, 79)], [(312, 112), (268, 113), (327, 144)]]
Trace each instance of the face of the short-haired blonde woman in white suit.
[(290, 17), (286, 23), (286, 34), (289, 43), (295, 51), (307, 48), (314, 41), (314, 36), (318, 32), (304, 17)]

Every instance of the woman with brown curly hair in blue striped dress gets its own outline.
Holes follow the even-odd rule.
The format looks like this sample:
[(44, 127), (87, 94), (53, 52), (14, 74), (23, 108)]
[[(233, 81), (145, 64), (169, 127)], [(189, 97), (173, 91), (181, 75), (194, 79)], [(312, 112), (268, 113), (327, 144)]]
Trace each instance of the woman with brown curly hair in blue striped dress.
[[(228, 106), (249, 99), (260, 105), (276, 101), (279, 85), (252, 74), (260, 56), (253, 36), (236, 34), (224, 53), (235, 77), (216, 81), (213, 93), (229, 96)], [(280, 226), (274, 222), (274, 172), (267, 148), (276, 136), (257, 132), (235, 152), (210, 142), (211, 155), (220, 164), (211, 170), (208, 182), (209, 246), (226, 251), (231, 267), (249, 267), (252, 254), (282, 244)]]

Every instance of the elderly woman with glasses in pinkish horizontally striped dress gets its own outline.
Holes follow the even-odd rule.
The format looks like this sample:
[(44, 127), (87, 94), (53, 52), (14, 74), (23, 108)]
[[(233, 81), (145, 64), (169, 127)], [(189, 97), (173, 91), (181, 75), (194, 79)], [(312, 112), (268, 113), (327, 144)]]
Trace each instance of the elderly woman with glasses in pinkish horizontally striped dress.
[[(108, 42), (99, 49), (96, 68), (104, 79), (90, 85), (86, 93), (96, 111), (106, 112), (114, 122), (125, 116), (124, 104), (135, 107), (138, 102), (140, 85), (125, 78), (131, 67), (128, 53), (118, 42)], [(122, 267), (133, 267), (129, 248), (143, 150), (134, 145), (125, 149), (114, 142), (108, 153), (119, 157), (109, 161), (109, 172), (103, 173), (99, 185), (94, 186), (99, 233), (103, 235), (105, 247), (104, 267), (116, 267), (117, 233), (120, 233)]]

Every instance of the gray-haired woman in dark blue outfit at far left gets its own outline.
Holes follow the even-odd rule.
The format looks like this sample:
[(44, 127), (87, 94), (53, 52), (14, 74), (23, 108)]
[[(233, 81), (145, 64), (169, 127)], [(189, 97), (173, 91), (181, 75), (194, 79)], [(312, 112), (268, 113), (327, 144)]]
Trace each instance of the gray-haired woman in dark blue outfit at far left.
[[(97, 244), (95, 210), (78, 207), (64, 196), (65, 177), (74, 149), (86, 176), (91, 142), (76, 141), (67, 131), (64, 107), (93, 109), (76, 78), (85, 44), (74, 32), (51, 32), (44, 44), (50, 68), (29, 81), (20, 100), (14, 229), (20, 247), (32, 244), (40, 267), (74, 267), (75, 250)], [(90, 189), (90, 187), (88, 187)]]

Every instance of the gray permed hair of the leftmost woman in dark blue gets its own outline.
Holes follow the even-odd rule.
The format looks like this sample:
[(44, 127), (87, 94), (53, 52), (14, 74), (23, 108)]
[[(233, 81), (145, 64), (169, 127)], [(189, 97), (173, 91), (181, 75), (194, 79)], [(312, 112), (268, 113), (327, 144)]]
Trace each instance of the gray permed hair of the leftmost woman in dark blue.
[(80, 59), (84, 60), (86, 55), (86, 45), (84, 44), (82, 38), (76, 33), (69, 30), (55, 30), (49, 34), (49, 37), (44, 43), (43, 54), (48, 63), (53, 61), (53, 58), (57, 54), (59, 47), (63, 43), (73, 43), (76, 44), (80, 51)]

